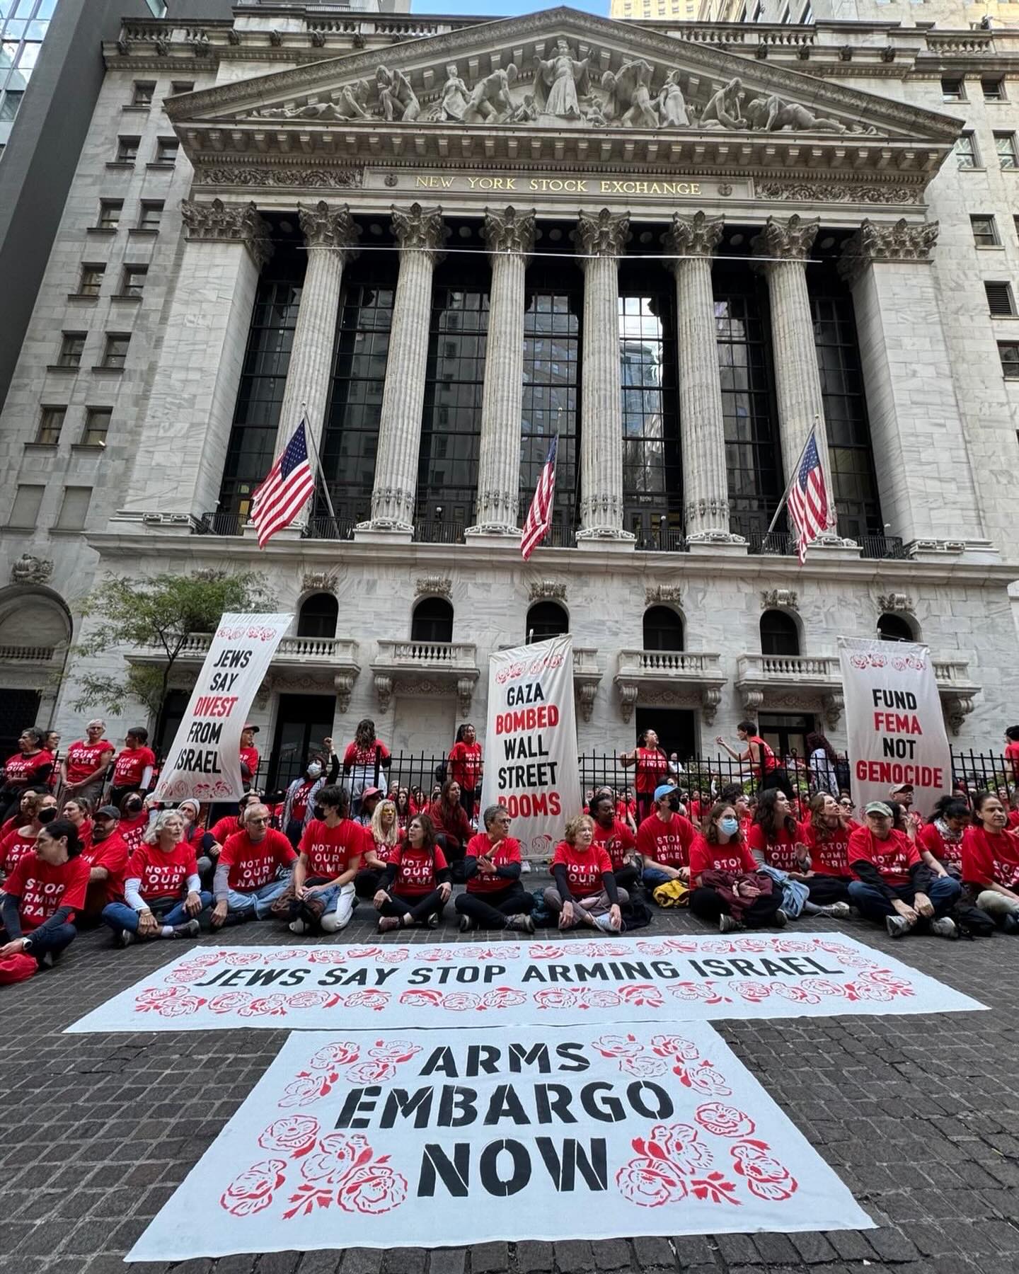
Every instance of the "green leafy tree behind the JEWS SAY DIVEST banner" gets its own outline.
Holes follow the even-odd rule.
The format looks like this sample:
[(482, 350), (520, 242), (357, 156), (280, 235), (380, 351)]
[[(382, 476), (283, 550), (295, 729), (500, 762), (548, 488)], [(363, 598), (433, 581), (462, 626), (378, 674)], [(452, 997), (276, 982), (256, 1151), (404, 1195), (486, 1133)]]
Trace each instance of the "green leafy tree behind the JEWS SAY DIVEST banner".
[[(264, 580), (255, 572), (195, 571), (191, 575), (160, 573), (145, 580), (107, 575), (82, 603), (87, 619), (94, 620), (74, 647), (76, 659), (104, 655), (117, 646), (159, 652), (158, 664), (124, 661), (120, 675), (79, 673), (74, 707), (102, 707), (121, 715), (129, 701), (144, 703), (155, 719), (154, 738), (163, 729), (169, 679), (191, 633), (215, 632), (224, 610), (269, 610), (274, 603), (264, 592)], [(69, 668), (73, 661), (69, 660)]]

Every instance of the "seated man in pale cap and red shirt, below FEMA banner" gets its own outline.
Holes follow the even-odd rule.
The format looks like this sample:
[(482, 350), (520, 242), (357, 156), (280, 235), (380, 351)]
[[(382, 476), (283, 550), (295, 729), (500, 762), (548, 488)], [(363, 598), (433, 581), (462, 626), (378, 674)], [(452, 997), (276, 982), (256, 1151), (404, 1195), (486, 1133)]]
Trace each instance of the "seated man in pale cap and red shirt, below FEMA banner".
[(884, 925), (892, 938), (913, 930), (957, 938), (948, 913), (959, 898), (959, 882), (932, 875), (909, 837), (892, 826), (893, 813), (884, 801), (871, 801), (864, 817), (866, 826), (852, 833), (848, 846), (856, 875), (850, 901), (860, 915)]

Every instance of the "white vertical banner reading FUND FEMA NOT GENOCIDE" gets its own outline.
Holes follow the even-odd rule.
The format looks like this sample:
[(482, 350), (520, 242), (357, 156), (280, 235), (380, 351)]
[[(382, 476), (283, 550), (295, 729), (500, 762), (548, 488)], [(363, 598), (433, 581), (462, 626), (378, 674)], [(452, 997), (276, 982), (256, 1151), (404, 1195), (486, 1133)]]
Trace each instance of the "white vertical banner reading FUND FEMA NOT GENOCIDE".
[(951, 791), (951, 753), (930, 650), (839, 637), (838, 655), (857, 805), (888, 800), (892, 787), (912, 784), (913, 808), (926, 817)]

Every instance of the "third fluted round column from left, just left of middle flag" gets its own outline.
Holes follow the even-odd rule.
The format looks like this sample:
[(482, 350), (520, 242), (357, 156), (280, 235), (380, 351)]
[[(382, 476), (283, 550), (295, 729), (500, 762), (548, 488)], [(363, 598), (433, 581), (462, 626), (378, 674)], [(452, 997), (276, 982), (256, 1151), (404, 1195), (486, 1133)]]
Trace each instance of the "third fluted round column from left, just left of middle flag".
[(534, 247), (534, 211), (485, 209), (481, 231), (492, 257), (476, 522), (467, 535), (518, 535), (520, 438), (524, 405), (524, 275)]

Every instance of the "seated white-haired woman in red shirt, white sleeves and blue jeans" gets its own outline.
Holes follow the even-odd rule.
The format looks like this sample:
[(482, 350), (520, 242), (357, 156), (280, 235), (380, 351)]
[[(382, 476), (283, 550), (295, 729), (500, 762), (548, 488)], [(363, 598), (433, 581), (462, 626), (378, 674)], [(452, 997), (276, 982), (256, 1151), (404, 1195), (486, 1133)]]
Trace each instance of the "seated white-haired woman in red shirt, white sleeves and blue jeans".
[(197, 938), (197, 917), (211, 901), (199, 880), (195, 850), (183, 838), (183, 819), (166, 809), (127, 862), (124, 902), (107, 903), (103, 920), (120, 947), (149, 938)]

